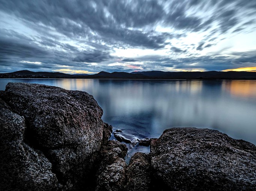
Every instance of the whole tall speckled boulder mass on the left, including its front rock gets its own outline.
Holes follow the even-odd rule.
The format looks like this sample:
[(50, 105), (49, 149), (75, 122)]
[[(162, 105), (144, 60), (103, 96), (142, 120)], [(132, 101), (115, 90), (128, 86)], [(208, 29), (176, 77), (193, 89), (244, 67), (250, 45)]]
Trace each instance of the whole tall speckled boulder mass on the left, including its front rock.
[(111, 134), (93, 96), (47, 85), (9, 83), (0, 98), (1, 163), (5, 164), (1, 173), (12, 181), (9, 189), (83, 187)]

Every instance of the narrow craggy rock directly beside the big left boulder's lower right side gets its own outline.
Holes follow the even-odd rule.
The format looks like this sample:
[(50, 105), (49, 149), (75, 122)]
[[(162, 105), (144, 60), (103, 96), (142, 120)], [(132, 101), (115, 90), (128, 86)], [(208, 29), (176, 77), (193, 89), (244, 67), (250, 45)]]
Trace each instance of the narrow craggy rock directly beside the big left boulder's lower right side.
[(127, 153), (125, 144), (118, 141), (109, 141), (102, 148), (102, 162), (97, 172), (96, 191), (124, 190), (126, 181), (126, 163), (124, 157)]

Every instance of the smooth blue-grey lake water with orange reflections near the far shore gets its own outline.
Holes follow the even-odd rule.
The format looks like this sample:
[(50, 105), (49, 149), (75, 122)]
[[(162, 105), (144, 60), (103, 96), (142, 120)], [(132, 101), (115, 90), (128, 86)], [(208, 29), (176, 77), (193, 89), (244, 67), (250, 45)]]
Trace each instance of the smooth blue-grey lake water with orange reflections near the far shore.
[(131, 136), (157, 138), (167, 128), (198, 127), (256, 144), (256, 81), (0, 79), (0, 90), (8, 82), (87, 91), (103, 120)]

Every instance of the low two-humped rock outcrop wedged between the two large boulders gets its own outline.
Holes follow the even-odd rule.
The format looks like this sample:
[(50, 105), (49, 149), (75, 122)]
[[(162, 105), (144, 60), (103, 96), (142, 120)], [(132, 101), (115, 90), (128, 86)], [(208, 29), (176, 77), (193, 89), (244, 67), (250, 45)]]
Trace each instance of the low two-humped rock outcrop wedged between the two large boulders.
[(144, 191), (150, 188), (149, 155), (135, 153), (126, 166), (126, 153), (126, 145), (115, 140), (103, 146), (103, 160), (97, 172), (97, 191)]

